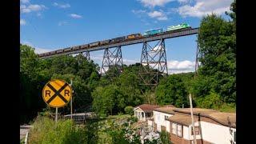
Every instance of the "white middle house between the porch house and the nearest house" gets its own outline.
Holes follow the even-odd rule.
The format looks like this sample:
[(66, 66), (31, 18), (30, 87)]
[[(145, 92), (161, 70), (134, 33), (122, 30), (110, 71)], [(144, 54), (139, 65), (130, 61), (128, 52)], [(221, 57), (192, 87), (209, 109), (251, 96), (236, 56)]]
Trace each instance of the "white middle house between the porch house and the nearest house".
[[(170, 132), (170, 122), (168, 118), (174, 115), (174, 109), (176, 107), (169, 105), (158, 107), (153, 110), (153, 120), (150, 126), (154, 127), (154, 131), (161, 132), (162, 130), (166, 130)], [(150, 124), (150, 120), (148, 121)]]

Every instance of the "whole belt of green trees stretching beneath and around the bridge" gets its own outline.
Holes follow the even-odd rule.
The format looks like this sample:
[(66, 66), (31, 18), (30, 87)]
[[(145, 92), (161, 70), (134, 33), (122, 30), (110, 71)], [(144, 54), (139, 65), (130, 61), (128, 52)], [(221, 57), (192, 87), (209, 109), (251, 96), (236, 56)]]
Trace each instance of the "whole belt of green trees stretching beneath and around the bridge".
[[(154, 89), (142, 86), (140, 63), (123, 66), (121, 74), (111, 68), (106, 75), (82, 54), (39, 59), (34, 48), (20, 44), (21, 124), (32, 121), (49, 109), (42, 100), (42, 88), (50, 79), (73, 81), (74, 112), (95, 111), (107, 116), (123, 114), (127, 106), (143, 103), (188, 107), (188, 95), (195, 107), (235, 111), (236, 107), (236, 6), (232, 3), (228, 19), (217, 14), (202, 18), (198, 45), (202, 52), (198, 71), (161, 77)], [(69, 114), (70, 106), (60, 109)]]

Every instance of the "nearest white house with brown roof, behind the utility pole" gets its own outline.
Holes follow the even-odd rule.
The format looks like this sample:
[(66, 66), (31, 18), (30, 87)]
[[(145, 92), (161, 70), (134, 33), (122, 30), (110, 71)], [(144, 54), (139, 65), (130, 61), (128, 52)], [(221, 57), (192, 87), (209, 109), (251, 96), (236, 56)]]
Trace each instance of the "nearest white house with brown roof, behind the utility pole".
[[(170, 121), (170, 139), (174, 144), (193, 143), (190, 108), (175, 109)], [(193, 109), (197, 143), (235, 143), (236, 114), (218, 110)]]

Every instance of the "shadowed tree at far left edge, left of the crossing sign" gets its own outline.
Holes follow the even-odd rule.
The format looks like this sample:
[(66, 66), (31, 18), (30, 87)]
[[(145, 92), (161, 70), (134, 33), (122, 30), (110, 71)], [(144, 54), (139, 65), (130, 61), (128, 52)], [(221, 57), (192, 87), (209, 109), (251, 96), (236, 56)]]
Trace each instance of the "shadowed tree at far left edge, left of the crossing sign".
[(42, 83), (46, 82), (43, 74), (38, 74), (40, 65), (34, 49), (20, 45), (20, 102), (21, 123), (30, 122), (37, 111), (42, 109)]

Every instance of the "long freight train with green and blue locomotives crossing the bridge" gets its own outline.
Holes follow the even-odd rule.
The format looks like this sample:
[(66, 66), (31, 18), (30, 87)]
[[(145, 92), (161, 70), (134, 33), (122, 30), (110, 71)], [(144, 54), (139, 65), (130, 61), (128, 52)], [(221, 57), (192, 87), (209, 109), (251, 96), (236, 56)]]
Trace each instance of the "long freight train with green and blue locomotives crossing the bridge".
[(135, 39), (140, 39), (140, 38), (148, 38), (151, 36), (156, 36), (156, 35), (161, 35), (161, 34), (174, 33), (179, 30), (190, 30), (190, 29), (191, 29), (191, 26), (189, 24), (182, 23), (182, 24), (175, 25), (175, 26), (168, 26), (166, 30), (163, 30), (162, 28), (146, 30), (146, 32), (144, 34), (130, 34), (130, 35), (122, 36), (122, 37), (118, 37), (118, 38), (112, 38), (112, 39), (103, 40), (103, 41), (99, 41), (99, 42), (92, 42), (92, 43), (85, 44), (82, 46), (71, 46), (68, 48), (60, 49), (60, 50), (54, 50), (54, 51), (50, 51), (47, 53), (39, 54), (39, 57), (46, 57), (46, 56), (53, 55), (53, 54), (66, 53), (71, 50), (86, 50), (86, 49), (90, 49), (90, 48), (93, 48), (96, 46), (105, 46), (105, 45), (110, 45), (110, 44), (114, 44), (114, 43), (118, 43), (118, 42), (126, 42), (126, 41), (130, 41), (130, 40), (135, 40)]

